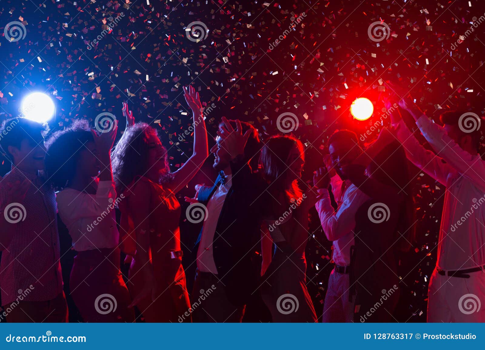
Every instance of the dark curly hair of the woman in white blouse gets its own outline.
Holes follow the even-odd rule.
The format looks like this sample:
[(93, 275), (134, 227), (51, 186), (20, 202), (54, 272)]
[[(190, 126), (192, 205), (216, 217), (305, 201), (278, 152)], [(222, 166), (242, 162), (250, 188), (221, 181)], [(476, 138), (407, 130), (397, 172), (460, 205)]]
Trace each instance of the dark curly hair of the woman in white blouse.
[(83, 145), (94, 141), (89, 122), (77, 119), (64, 130), (56, 131), (46, 141), (46, 175), (55, 190), (61, 191), (76, 174)]

